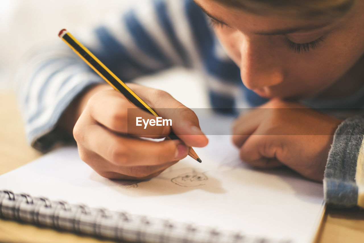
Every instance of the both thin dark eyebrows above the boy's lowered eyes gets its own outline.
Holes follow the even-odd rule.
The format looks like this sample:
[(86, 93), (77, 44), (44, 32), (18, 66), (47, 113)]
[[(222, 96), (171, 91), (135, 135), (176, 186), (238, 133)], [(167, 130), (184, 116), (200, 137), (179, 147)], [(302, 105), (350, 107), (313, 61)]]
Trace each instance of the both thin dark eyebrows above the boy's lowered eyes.
[[(194, 1), (198, 7), (202, 9), (204, 13), (206, 13), (207, 16), (209, 16), (211, 19), (215, 20), (218, 23), (225, 24), (226, 26), (229, 26), (229, 24), (226, 24), (222, 20), (216, 18), (215, 16), (211, 15), (211, 13), (207, 12), (205, 8), (203, 8), (199, 3)], [(315, 30), (319, 28), (323, 28), (327, 26), (329, 23), (324, 23), (320, 25), (310, 25), (310, 26), (299, 26), (299, 27), (292, 27), (292, 28), (283, 28), (283, 29), (277, 29), (277, 30), (270, 30), (270, 31), (256, 31), (254, 34), (256, 35), (285, 35), (285, 34), (291, 34), (298, 31), (309, 31), (309, 30)]]

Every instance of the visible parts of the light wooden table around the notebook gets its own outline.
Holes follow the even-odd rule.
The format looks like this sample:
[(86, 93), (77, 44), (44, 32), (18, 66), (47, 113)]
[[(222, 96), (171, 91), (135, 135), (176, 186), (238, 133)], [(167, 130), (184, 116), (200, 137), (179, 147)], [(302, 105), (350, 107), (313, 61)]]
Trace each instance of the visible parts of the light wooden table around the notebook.
[[(41, 156), (25, 141), (12, 92), (0, 92), (0, 175)], [(48, 228), (0, 220), (0, 242), (111, 242)], [(364, 211), (327, 209), (316, 243), (364, 242)]]

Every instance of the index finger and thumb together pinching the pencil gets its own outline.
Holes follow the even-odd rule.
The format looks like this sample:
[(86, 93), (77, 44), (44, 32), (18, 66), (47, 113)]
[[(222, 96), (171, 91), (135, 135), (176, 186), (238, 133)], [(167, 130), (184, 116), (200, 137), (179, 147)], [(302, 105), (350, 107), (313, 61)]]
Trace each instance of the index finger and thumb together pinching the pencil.
[[(174, 133), (188, 146), (203, 147), (208, 140), (199, 127), (195, 113), (179, 103), (168, 93), (135, 84), (128, 84), (159, 116), (171, 119)], [(108, 129), (148, 138), (163, 138), (171, 132), (170, 126), (145, 126), (155, 116), (136, 108), (119, 92), (107, 90), (94, 95), (88, 104), (95, 121)], [(139, 119), (137, 125), (136, 117)], [(142, 123), (142, 120), (143, 123)]]

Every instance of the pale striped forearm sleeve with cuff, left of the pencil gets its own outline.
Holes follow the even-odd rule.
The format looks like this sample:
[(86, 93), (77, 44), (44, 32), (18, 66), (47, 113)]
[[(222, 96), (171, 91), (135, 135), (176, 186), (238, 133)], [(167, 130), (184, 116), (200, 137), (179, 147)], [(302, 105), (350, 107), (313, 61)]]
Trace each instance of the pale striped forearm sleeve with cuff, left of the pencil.
[(80, 92), (100, 81), (62, 43), (36, 51), (22, 63), (16, 77), (27, 141), (46, 151), (64, 139), (65, 134), (55, 129), (60, 116)]

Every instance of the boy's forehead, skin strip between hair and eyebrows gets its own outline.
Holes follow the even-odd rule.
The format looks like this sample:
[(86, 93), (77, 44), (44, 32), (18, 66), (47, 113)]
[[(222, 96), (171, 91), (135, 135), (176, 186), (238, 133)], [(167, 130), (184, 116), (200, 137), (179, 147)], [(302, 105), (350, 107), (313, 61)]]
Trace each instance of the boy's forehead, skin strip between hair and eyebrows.
[(210, 17), (221, 20), (232, 27), (242, 27), (246, 31), (266, 32), (272, 29), (310, 29), (331, 23), (328, 20), (300, 19), (276, 15), (257, 15), (239, 8), (228, 7), (213, 0), (194, 0)]

